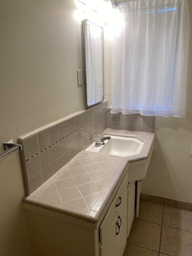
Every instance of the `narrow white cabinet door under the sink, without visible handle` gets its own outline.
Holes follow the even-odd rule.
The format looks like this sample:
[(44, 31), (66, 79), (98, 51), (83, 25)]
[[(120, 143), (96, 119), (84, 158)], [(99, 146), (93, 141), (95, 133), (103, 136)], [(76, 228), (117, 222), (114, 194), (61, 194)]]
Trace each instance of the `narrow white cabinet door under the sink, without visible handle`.
[(131, 226), (135, 215), (135, 182), (128, 184), (128, 198), (127, 198), (127, 237), (129, 236)]

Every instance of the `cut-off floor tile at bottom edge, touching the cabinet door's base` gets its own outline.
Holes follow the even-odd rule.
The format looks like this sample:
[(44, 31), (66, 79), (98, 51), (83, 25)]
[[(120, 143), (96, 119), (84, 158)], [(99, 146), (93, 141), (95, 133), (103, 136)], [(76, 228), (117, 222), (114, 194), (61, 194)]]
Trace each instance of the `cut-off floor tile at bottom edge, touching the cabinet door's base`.
[(133, 244), (126, 244), (123, 256), (158, 256), (158, 252), (154, 252)]

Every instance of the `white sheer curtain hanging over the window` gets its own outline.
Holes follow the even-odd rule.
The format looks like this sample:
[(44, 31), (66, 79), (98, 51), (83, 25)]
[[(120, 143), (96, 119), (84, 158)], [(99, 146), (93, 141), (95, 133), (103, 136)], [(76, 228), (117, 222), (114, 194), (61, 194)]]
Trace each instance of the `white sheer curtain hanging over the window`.
[(112, 113), (185, 115), (189, 42), (186, 0), (118, 3), (124, 24), (115, 38)]

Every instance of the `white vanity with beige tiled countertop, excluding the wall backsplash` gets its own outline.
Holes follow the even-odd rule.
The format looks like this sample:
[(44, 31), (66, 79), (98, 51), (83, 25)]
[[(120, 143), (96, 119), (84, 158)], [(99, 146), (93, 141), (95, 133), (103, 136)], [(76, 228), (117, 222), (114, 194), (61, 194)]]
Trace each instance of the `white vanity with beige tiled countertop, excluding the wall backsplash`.
[(138, 140), (138, 154), (116, 156), (115, 150), (107, 154), (88, 147), (26, 196), (23, 206), (33, 256), (123, 255), (155, 136), (113, 129), (104, 134)]

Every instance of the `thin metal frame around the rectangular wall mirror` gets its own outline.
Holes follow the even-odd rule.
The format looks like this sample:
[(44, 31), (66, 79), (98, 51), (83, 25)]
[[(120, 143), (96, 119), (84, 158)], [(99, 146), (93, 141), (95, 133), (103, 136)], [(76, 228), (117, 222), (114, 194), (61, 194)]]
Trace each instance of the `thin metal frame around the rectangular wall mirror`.
[(94, 106), (96, 104), (99, 104), (100, 102), (102, 102), (104, 100), (104, 31), (103, 31), (103, 28), (101, 26), (98, 26), (99, 28), (102, 29), (102, 32), (103, 32), (103, 98), (102, 100), (100, 100), (99, 102), (96, 102), (92, 105), (89, 105), (88, 106), (88, 103), (87, 103), (87, 80), (86, 80), (86, 48), (85, 48), (85, 22), (88, 21), (92, 24), (94, 24), (95, 26), (98, 26), (97, 24), (91, 22), (90, 20), (88, 19), (84, 19), (82, 21), (82, 42), (83, 42), (83, 76), (84, 76), (84, 91), (85, 91), (85, 105), (87, 108), (91, 107), (91, 106)]

